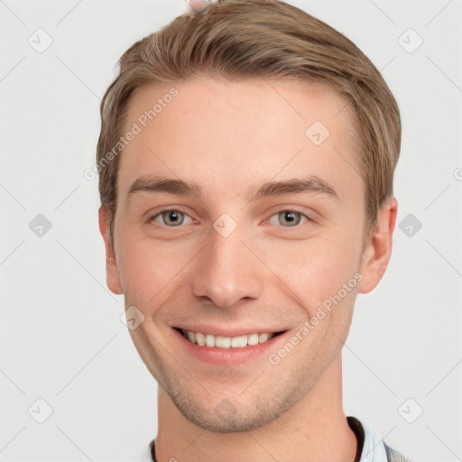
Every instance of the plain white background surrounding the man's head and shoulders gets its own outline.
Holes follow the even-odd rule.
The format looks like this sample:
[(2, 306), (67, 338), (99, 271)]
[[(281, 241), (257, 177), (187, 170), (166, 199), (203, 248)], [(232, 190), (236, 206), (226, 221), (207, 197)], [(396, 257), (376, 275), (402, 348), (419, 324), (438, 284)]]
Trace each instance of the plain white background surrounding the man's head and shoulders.
[[(383, 282), (357, 300), (347, 415), (416, 462), (462, 460), (462, 2), (290, 3), (383, 71), (402, 111), (398, 223), (422, 224), (411, 237), (397, 227)], [(0, 462), (127, 461), (155, 437), (156, 383), (119, 319), (123, 299), (106, 289), (97, 180), (83, 171), (116, 61), (185, 10), (0, 0)], [(39, 28), (53, 41), (42, 53), (28, 43)], [(423, 43), (408, 52), (415, 32)], [(42, 237), (29, 227), (38, 214), (52, 225)], [(38, 399), (52, 408), (43, 423)]]

